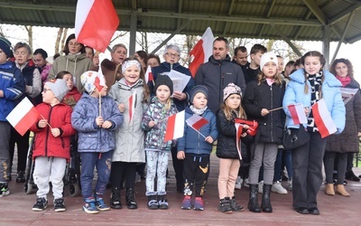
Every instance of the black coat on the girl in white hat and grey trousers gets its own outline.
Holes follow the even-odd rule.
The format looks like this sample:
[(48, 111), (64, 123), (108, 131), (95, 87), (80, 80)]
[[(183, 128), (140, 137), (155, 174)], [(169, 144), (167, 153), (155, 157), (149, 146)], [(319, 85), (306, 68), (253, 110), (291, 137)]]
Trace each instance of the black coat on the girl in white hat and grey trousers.
[[(247, 118), (258, 122), (257, 135), (260, 143), (282, 144), (284, 120), (286, 118), (282, 110), (282, 99), (285, 91), (285, 83), (277, 86), (267, 84), (267, 81), (261, 81), (258, 86), (257, 80), (252, 80), (245, 88), (245, 97), (242, 99), (242, 106), (245, 108)], [(280, 108), (271, 111), (268, 115), (262, 116), (262, 108), (268, 110)]]

